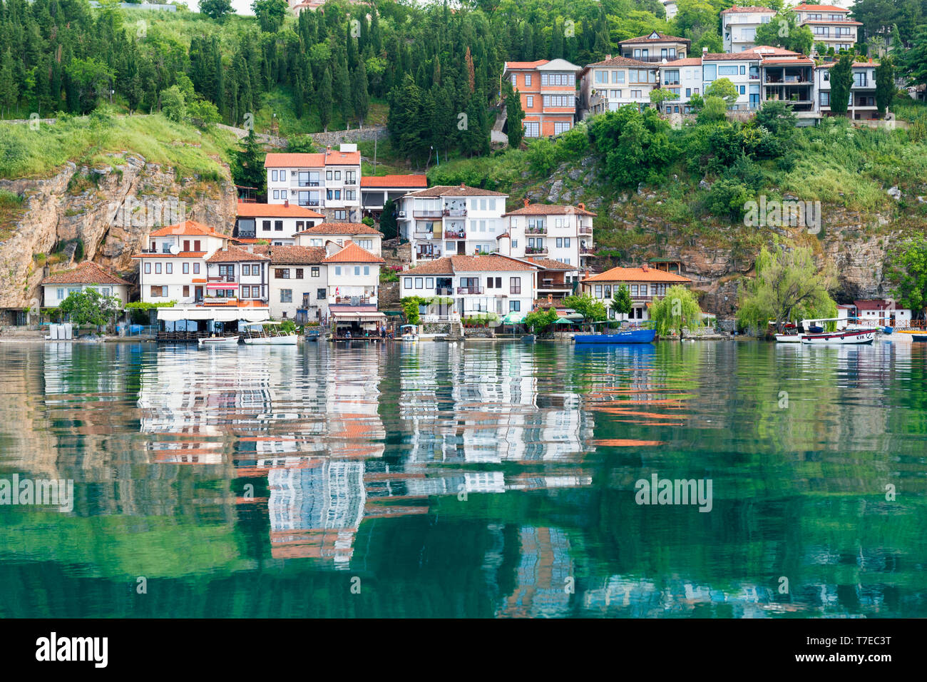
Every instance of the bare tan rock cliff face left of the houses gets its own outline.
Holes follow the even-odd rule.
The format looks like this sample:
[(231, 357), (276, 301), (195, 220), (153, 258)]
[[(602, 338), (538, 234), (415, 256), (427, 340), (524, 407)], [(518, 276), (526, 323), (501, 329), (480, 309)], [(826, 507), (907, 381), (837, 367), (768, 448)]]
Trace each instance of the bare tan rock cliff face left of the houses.
[[(45, 271), (69, 268), (75, 251), (137, 281), (132, 254), (169, 214), (231, 233), (236, 193), (227, 167), (222, 181), (214, 182), (179, 176), (136, 154), (111, 159), (99, 168), (69, 162), (44, 179), (0, 180), (0, 189), (23, 198), (12, 230), (0, 242), (0, 308), (41, 300)], [(171, 210), (154, 218), (156, 206)]]

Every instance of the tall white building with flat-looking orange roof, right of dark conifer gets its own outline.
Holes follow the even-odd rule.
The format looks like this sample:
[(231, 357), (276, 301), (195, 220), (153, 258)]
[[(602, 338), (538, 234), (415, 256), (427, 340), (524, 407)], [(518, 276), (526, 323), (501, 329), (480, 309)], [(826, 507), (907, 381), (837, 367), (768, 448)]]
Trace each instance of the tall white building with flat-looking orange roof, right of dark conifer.
[(318, 154), (270, 153), (267, 201), (289, 201), (342, 223), (361, 221), (361, 152), (355, 144)]

